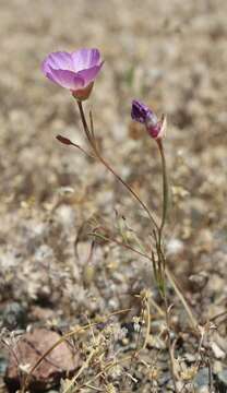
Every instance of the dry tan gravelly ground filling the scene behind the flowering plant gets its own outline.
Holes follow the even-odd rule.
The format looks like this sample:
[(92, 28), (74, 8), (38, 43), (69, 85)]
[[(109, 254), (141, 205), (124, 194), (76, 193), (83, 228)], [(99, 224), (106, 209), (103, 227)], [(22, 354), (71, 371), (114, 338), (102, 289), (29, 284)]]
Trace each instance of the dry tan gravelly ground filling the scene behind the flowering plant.
[[(75, 330), (69, 347), (45, 360), (31, 392), (175, 391), (151, 264), (107, 241), (96, 241), (91, 253), (91, 228), (136, 231), (147, 245), (148, 219), (99, 163), (55, 139), (62, 133), (84, 143), (73, 99), (44, 78), (40, 63), (53, 50), (97, 47), (106, 62), (86, 110), (93, 109), (105, 157), (157, 215), (159, 156), (131, 122), (131, 100), (168, 117), (168, 266), (199, 326), (195, 334), (169, 283), (177, 389), (227, 392), (226, 1), (1, 0), (0, 7), (0, 389), (7, 392), (9, 354), (23, 380), (48, 349), (43, 335)], [(25, 331), (32, 344), (21, 360)], [(76, 354), (72, 364), (69, 350)]]

